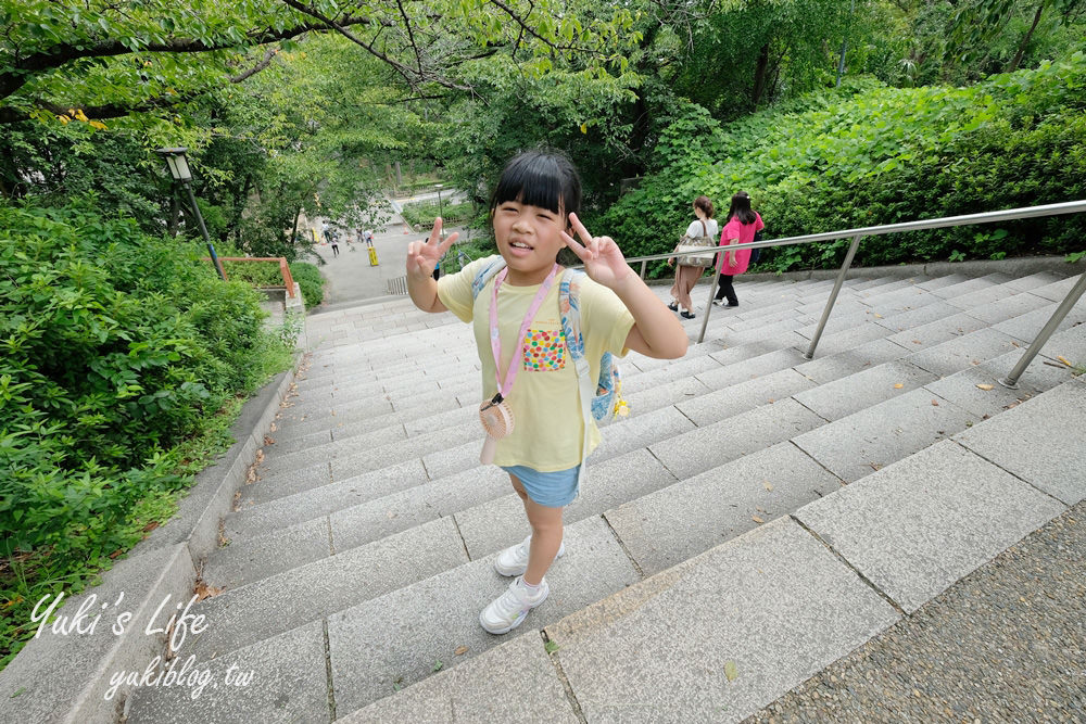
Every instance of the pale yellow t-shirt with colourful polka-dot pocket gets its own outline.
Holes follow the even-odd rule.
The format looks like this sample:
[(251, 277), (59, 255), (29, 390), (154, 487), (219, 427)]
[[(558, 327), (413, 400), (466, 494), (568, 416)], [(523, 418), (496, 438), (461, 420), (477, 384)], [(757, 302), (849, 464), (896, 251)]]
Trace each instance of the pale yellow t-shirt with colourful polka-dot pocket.
[[(493, 258), (493, 257), (490, 257)], [(494, 289), (491, 279), (472, 304), (471, 282), (490, 262), (472, 262), (459, 272), (438, 280), (438, 299), (464, 321), (473, 323), (476, 344), (482, 361), (483, 399), (497, 392), (494, 352), (490, 344), (490, 304)], [(584, 421), (578, 397), (577, 368), (566, 348), (558, 313), (558, 284), (561, 270), (525, 335), (520, 369), (506, 403), (513, 410), (513, 432), (497, 442), (494, 465), (527, 466), (540, 472), (567, 470), (581, 461)], [(514, 287), (504, 282), (497, 290), (497, 327), (502, 339), (502, 380), (516, 352), (517, 334), (528, 307), (540, 285)], [(602, 284), (581, 281), (581, 336), (589, 360), (592, 389), (599, 378), (599, 358), (604, 352), (624, 356), (626, 338), (633, 327), (633, 316), (618, 296)], [(599, 444), (599, 430), (591, 422), (591, 453)], [(482, 427), (479, 427), (480, 445)]]

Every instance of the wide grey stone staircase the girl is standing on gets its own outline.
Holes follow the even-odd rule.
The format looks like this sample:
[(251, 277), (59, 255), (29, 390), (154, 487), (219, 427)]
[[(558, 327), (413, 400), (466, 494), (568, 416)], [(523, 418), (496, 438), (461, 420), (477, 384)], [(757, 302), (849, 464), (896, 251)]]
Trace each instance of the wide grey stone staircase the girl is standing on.
[[(1073, 282), (850, 279), (813, 360), (832, 281), (742, 283), (684, 358), (623, 360), (631, 416), (507, 636), (477, 617), (528, 528), (478, 461), (469, 327), (408, 300), (311, 317), (202, 571), (222, 592), (181, 658), (218, 685), (137, 689), (127, 722), (742, 720), (1086, 497), (1086, 384), (1058, 359), (1086, 360), (1086, 301), (997, 382)], [(1079, 472), (1014, 469), (1046, 445)]]

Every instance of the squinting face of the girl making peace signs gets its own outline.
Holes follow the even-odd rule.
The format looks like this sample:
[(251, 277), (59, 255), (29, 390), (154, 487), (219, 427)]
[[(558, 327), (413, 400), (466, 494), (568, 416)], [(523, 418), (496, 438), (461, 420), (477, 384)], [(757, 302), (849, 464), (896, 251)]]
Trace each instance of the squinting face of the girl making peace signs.
[(497, 251), (509, 267), (508, 282), (514, 285), (541, 283), (550, 274), (559, 250), (566, 245), (561, 231), (565, 214), (506, 201), (494, 209), (494, 238)]

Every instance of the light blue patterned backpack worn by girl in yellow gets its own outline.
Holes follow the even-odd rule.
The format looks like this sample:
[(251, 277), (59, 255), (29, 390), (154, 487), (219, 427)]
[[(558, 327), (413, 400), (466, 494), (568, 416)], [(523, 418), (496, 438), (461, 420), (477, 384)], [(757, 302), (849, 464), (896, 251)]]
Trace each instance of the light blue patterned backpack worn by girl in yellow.
[[(496, 255), (491, 256), (471, 282), (471, 299), (477, 299), (487, 282), (503, 268), (505, 259)], [(622, 373), (615, 355), (609, 352), (605, 352), (599, 359), (599, 377), (596, 380), (595, 394), (592, 392), (589, 360), (584, 358), (584, 339), (581, 336), (580, 283), (584, 276), (583, 271), (576, 269), (566, 269), (563, 272), (561, 281), (558, 283), (558, 312), (561, 316), (561, 331), (566, 336), (566, 348), (569, 350), (569, 356), (572, 357), (577, 369), (586, 441), (590, 415), (596, 420), (626, 417), (630, 414), (630, 406), (622, 399)]]

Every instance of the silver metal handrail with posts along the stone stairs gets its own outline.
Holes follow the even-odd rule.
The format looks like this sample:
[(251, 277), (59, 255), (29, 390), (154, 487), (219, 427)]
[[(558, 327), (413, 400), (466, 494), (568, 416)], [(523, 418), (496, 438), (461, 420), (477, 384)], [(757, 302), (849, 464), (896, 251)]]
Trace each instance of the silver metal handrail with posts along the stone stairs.
[[(902, 231), (920, 231), (922, 229), (942, 229), (952, 226), (968, 226), (970, 224), (992, 224), (994, 221), (1009, 221), (1024, 218), (1036, 218), (1038, 216), (1058, 216), (1060, 214), (1077, 214), (1086, 212), (1086, 200), (1082, 201), (1066, 201), (1059, 204), (1045, 204), (1041, 206), (1026, 206), (1023, 208), (1008, 208), (998, 212), (983, 212), (981, 214), (964, 214), (962, 216), (947, 216), (943, 218), (934, 219), (923, 219), (919, 221), (904, 221), (901, 224), (884, 224), (881, 226), (868, 226), (857, 229), (845, 229), (843, 231), (826, 231), (824, 233), (809, 233), (801, 237), (786, 237), (784, 239), (767, 239), (762, 241), (748, 242), (745, 244), (732, 244), (727, 247), (721, 246), (720, 249), (725, 250), (724, 252), (733, 252), (743, 249), (769, 249), (771, 246), (791, 246), (795, 244), (807, 244), (817, 241), (835, 241), (837, 239), (853, 238), (853, 243), (848, 247), (848, 252), (845, 254), (845, 262), (841, 266), (841, 270), (837, 272), (837, 278), (833, 284), (833, 291), (830, 292), (830, 297), (826, 300), (825, 308), (822, 310), (822, 318), (819, 320), (818, 330), (811, 338), (810, 347), (804, 355), (807, 359), (815, 358), (815, 348), (818, 346), (819, 340), (822, 336), (823, 330), (825, 330), (825, 325), (830, 319), (830, 313), (833, 309), (833, 305), (837, 301), (837, 294), (841, 292), (842, 284), (845, 283), (845, 277), (848, 274), (848, 268), (853, 264), (853, 258), (856, 256), (856, 250), (860, 245), (860, 239), (863, 237), (877, 237), (886, 233), (900, 233)], [(641, 278), (645, 278), (645, 267), (648, 262), (670, 259), (682, 256), (689, 256), (691, 254), (704, 254), (704, 251), (690, 251), (690, 252), (671, 252), (668, 254), (649, 254), (646, 256), (636, 256), (627, 259), (627, 264), (636, 264), (641, 262)], [(709, 313), (712, 309), (712, 297), (717, 294), (717, 285), (720, 283), (720, 269), (714, 261), (715, 272), (712, 275), (712, 283), (709, 289), (709, 301), (705, 305), (705, 312), (703, 313), (702, 319), (702, 332), (697, 338), (698, 344), (705, 341), (705, 330), (709, 325)], [(1052, 313), (1051, 318), (1041, 328), (1040, 332), (1030, 344), (1025, 354), (1018, 361), (1011, 372), (1002, 380), (999, 380), (1005, 386), (1016, 389), (1018, 380), (1025, 371), (1025, 368), (1033, 361), (1040, 348), (1048, 342), (1048, 339), (1059, 327), (1063, 318), (1066, 317), (1071, 308), (1078, 302), (1083, 293), (1086, 293), (1086, 272), (1079, 277), (1075, 285), (1068, 292), (1063, 302), (1057, 307), (1056, 312)]]

